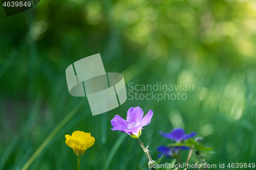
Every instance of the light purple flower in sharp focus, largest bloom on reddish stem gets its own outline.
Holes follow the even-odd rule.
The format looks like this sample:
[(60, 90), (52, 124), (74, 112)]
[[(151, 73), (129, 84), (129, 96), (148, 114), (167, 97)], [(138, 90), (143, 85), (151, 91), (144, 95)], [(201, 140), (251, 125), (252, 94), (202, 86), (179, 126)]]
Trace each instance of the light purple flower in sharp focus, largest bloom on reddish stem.
[(119, 115), (115, 115), (111, 120), (111, 125), (113, 126), (112, 130), (122, 131), (133, 138), (138, 138), (141, 134), (142, 127), (150, 124), (152, 116), (152, 110), (148, 111), (143, 117), (143, 110), (140, 107), (131, 107), (127, 111), (126, 120)]

